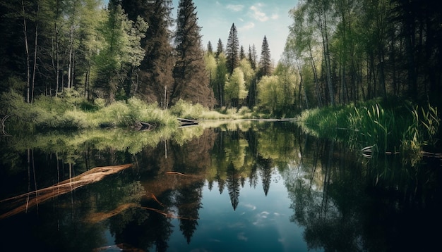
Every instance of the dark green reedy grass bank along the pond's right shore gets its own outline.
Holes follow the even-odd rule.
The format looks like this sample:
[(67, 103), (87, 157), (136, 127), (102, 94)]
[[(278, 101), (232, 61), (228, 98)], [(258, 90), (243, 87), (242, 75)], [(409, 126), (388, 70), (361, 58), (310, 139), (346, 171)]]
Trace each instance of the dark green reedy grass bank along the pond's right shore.
[(409, 101), (371, 100), (304, 111), (297, 121), (317, 137), (347, 142), (352, 149), (421, 153), (437, 146), (437, 108)]

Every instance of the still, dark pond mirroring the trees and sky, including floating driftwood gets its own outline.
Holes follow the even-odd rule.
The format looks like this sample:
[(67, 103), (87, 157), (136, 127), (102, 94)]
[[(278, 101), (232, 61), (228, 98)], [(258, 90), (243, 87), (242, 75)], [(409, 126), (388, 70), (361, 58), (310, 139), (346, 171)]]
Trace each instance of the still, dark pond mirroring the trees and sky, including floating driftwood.
[(294, 122), (1, 137), (1, 251), (433, 251), (441, 160)]

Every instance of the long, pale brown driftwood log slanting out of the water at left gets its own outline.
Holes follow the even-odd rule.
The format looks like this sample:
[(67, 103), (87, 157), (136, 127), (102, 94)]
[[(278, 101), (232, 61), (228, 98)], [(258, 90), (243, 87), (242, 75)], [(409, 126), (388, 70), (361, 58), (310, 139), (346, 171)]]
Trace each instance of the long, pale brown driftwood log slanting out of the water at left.
[(0, 203), (2, 205), (7, 205), (8, 208), (12, 208), (12, 210), (8, 210), (8, 212), (1, 214), (0, 220), (28, 210), (28, 208), (32, 206), (37, 206), (39, 203), (47, 201), (48, 199), (66, 194), (87, 184), (98, 182), (107, 175), (115, 174), (131, 166), (132, 164), (126, 164), (93, 168), (91, 170), (88, 170), (87, 172), (83, 172), (76, 177), (66, 179), (58, 184), (54, 184), (52, 187), (30, 191), (26, 194), (21, 194), (12, 198), (1, 200)]

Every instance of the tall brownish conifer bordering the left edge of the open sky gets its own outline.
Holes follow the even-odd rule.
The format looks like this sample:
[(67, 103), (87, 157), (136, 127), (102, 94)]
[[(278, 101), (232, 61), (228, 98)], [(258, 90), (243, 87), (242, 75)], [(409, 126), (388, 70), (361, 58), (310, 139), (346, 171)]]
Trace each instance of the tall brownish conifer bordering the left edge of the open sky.
[(213, 107), (215, 99), (209, 87), (201, 49), (201, 27), (198, 26), (196, 7), (192, 0), (179, 1), (174, 66), (172, 103), (179, 99)]

